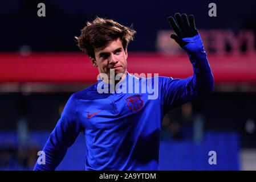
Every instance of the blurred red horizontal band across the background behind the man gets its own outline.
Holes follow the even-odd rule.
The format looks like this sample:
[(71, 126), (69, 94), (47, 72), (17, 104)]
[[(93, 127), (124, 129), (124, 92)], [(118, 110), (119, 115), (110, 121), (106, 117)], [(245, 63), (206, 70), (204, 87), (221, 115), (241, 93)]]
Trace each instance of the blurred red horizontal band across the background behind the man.
[[(209, 55), (215, 83), (256, 83), (256, 54)], [(36, 52), (22, 56), (0, 53), (0, 82), (96, 82), (98, 70), (84, 53)], [(187, 55), (128, 53), (129, 73), (159, 73), (159, 76), (186, 78), (193, 75)]]

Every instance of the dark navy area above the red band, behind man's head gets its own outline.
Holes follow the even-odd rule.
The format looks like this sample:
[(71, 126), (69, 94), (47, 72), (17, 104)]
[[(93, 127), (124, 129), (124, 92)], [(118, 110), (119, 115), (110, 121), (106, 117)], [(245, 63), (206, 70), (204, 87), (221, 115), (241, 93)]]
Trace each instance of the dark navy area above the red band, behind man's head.
[[(46, 5), (46, 17), (38, 17), (38, 3)], [(217, 17), (209, 17), (208, 5), (217, 5)], [(169, 30), (166, 18), (176, 12), (193, 14), (198, 29), (223, 28), (237, 32), (254, 28), (256, 1), (60, 1), (13, 0), (0, 6), (0, 51), (79, 51), (74, 36), (96, 16), (111, 18), (137, 31), (129, 51), (155, 51), (159, 30)]]

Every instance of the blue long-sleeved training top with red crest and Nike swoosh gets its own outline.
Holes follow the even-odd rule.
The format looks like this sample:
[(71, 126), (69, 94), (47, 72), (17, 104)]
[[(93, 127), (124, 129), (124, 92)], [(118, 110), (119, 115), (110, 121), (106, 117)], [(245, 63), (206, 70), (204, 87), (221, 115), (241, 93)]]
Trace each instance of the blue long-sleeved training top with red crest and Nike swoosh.
[[(193, 65), (193, 76), (137, 78), (127, 73), (114, 92), (109, 90), (111, 85), (99, 80), (72, 94), (43, 148), (46, 164), (36, 162), (34, 170), (54, 170), (80, 131), (86, 138), (86, 170), (159, 170), (164, 114), (213, 90), (213, 75), (200, 35), (183, 40), (189, 42), (182, 48)], [(152, 90), (156, 96), (149, 99)]]

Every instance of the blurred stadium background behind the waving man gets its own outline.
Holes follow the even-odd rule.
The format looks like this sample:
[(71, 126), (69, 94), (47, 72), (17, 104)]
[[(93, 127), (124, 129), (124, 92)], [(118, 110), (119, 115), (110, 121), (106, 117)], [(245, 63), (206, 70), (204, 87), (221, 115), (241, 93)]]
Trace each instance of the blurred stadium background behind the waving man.
[[(46, 16), (37, 15), (38, 3)], [(208, 15), (216, 3), (217, 16)], [(256, 170), (255, 1), (13, 0), (0, 6), (0, 169), (31, 170), (72, 93), (96, 83), (97, 69), (74, 36), (87, 20), (111, 18), (137, 31), (130, 73), (185, 78), (187, 55), (166, 18), (194, 14), (214, 91), (170, 111), (162, 122), (160, 170)], [(150, 150), (150, 148), (148, 149)], [(209, 151), (217, 164), (210, 165)], [(56, 170), (83, 170), (81, 133)]]

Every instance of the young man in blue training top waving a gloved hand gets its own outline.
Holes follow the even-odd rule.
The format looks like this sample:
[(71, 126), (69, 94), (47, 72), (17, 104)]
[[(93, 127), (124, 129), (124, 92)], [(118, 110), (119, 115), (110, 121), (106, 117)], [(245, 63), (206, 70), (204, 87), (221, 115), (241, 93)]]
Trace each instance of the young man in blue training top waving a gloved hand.
[[(213, 89), (213, 75), (194, 16), (175, 16), (178, 25), (173, 17), (168, 18), (177, 34), (170, 37), (188, 53), (194, 70), (186, 79), (132, 76), (127, 72), (127, 45), (135, 31), (109, 19), (87, 23), (77, 38), (78, 46), (99, 69), (99, 81), (72, 94), (43, 148), (46, 164), (36, 163), (34, 170), (54, 170), (80, 131), (86, 138), (86, 170), (159, 169), (164, 114)], [(118, 79), (113, 78), (117, 75)], [(145, 85), (146, 91), (153, 88), (156, 97), (149, 98), (152, 92), (143, 92), (142, 87), (133, 91), (138, 85)]]

